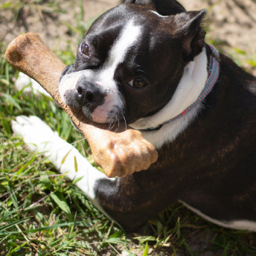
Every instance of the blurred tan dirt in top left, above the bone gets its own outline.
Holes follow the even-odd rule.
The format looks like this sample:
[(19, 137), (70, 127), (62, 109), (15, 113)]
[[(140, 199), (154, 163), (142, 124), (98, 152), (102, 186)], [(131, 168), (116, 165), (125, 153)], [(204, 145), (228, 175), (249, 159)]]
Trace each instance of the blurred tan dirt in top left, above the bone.
[[(0, 0), (0, 7), (1, 1), (8, 2)], [(65, 50), (68, 42), (71, 42), (73, 50), (77, 48), (78, 33), (75, 33), (68, 25), (77, 28), (76, 19), (80, 19), (81, 16), (80, 0), (60, 0), (56, 7), (49, 4), (52, 0), (45, 0), (46, 4), (25, 4), (19, 10), (18, 15), (16, 15), (17, 10), (14, 5), (16, 1), (13, 1), (12, 9), (0, 10), (0, 42), (10, 43), (21, 33), (33, 32), (39, 33), (51, 49)], [(84, 19), (83, 23), (80, 21), (80, 25), (86, 25), (100, 13), (117, 4), (118, 0), (84, 0)], [(60, 13), (57, 13), (57, 9)], [(13, 19), (15, 16), (16, 20)]]

